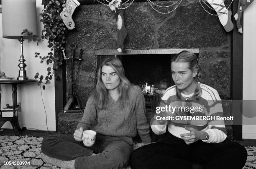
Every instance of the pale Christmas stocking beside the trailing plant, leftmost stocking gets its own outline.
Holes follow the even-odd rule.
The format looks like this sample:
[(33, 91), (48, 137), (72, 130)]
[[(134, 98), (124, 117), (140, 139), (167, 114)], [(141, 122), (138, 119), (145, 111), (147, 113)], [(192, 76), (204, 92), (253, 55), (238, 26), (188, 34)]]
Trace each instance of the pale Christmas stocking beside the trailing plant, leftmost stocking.
[(79, 5), (80, 3), (77, 0), (67, 0), (66, 7), (63, 8), (63, 11), (60, 13), (61, 18), (68, 29), (74, 29), (72, 14), (74, 13), (75, 8)]

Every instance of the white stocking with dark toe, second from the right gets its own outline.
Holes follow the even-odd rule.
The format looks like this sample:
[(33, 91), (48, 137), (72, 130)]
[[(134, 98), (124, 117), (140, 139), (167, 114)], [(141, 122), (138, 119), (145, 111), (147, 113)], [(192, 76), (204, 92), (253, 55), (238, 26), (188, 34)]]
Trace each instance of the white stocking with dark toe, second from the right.
[(234, 25), (231, 21), (232, 12), (227, 10), (223, 0), (207, 0), (207, 2), (212, 6), (212, 8), (218, 14), (220, 23), (223, 25), (227, 32), (233, 30)]

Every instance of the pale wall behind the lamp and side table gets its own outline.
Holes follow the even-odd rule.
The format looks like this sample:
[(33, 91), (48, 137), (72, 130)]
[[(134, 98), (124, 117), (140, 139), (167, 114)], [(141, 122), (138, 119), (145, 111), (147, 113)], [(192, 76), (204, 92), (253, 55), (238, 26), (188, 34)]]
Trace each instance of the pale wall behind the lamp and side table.
[[(41, 5), (42, 1), (37, 0), (37, 12), (38, 12), (38, 25), (40, 25), (41, 32), (43, 25), (40, 23), (39, 13), (43, 9)], [(2, 15), (2, 14), (1, 14)], [(2, 19), (2, 16), (1, 16)], [(2, 23), (2, 20), (1, 20)], [(39, 27), (39, 26), (38, 26)], [(2, 29), (2, 27), (1, 27)], [(2, 34), (2, 30), (0, 30)], [(23, 43), (23, 53), (26, 60), (26, 72), (28, 78), (33, 78), (36, 72), (46, 75), (47, 67), (49, 65), (41, 64), (38, 58), (35, 58), (35, 52), (39, 52), (41, 55), (46, 55), (50, 50), (47, 47), (47, 41), (40, 43), (39, 46), (36, 43)], [(18, 40), (5, 39), (1, 35), (1, 51), (0, 51), (0, 69), (6, 73), (8, 77), (18, 77), (18, 59), (20, 58), (20, 43)], [(44, 74), (45, 73), (45, 74)], [(54, 77), (53, 77), (54, 79)], [(12, 105), (12, 89), (9, 85), (1, 85), (1, 106), (5, 106), (6, 103)], [(44, 105), (47, 113), (47, 124), (50, 131), (55, 131), (55, 93), (54, 93), (54, 81), (51, 81), (50, 85), (46, 86), (46, 90), (42, 89), (42, 96), (44, 105), (41, 99), (41, 90), (36, 83), (18, 85), (18, 102), (21, 102), (22, 111), (19, 112), (19, 123), (21, 127), (34, 128), (40, 130), (47, 130), (46, 128), (46, 114), (44, 111)], [(2, 128), (11, 128), (9, 122), (5, 123)]]

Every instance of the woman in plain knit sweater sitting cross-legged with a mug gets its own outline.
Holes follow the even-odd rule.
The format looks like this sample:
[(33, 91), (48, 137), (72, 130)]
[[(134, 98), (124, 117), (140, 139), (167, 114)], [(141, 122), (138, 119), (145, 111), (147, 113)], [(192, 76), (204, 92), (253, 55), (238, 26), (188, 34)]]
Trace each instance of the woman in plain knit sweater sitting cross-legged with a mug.
[[(91, 147), (82, 142), (82, 133), (88, 129), (97, 132)], [(143, 93), (124, 76), (120, 60), (112, 57), (97, 72), (96, 90), (73, 136), (47, 136), (41, 149), (47, 156), (69, 161), (70, 168), (121, 169), (128, 164), (137, 131), (145, 144), (151, 142)]]

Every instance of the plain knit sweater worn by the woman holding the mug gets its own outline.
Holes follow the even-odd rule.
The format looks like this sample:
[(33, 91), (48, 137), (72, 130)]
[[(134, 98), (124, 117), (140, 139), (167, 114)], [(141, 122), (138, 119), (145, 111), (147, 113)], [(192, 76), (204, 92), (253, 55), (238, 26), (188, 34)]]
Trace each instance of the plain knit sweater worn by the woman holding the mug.
[(84, 130), (92, 129), (103, 135), (127, 137), (136, 136), (138, 130), (144, 143), (151, 142), (145, 116), (145, 99), (138, 86), (129, 87), (128, 100), (123, 109), (119, 106), (119, 99), (114, 101), (109, 95), (107, 108), (97, 110), (93, 97), (89, 97), (77, 129), (82, 126)]

